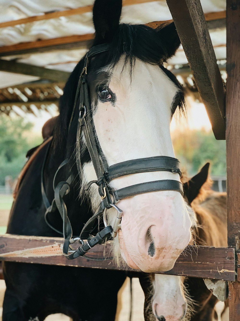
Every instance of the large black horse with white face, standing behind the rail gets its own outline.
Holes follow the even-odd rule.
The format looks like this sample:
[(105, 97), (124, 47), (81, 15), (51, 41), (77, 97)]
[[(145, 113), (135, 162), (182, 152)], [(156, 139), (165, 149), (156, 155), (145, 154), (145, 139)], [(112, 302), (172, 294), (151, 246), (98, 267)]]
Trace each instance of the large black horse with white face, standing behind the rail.
[[(121, 8), (119, 0), (94, 3), (93, 46), (108, 44), (108, 51), (91, 58), (86, 74), (94, 134), (108, 166), (155, 156), (174, 158), (169, 125), (177, 106), (184, 109), (184, 101), (180, 84), (163, 63), (179, 47), (178, 34), (173, 23), (162, 29), (120, 24)], [(95, 184), (85, 191), (87, 183), (98, 178), (84, 136), (81, 149), (76, 150), (79, 110), (73, 112), (73, 106), (83, 67), (84, 58), (66, 83), (43, 173), (45, 192), (52, 200), (54, 174), (60, 163), (69, 159), (56, 180), (66, 180), (69, 173), (74, 178), (70, 192), (64, 196), (73, 235), (79, 235), (101, 201)], [(59, 236), (44, 221), (41, 169), (46, 148), (38, 152), (21, 181), (8, 233)], [(81, 173), (76, 158), (81, 159)], [(118, 190), (158, 180), (180, 178), (169, 171), (147, 171), (115, 178), (109, 185)], [(123, 210), (121, 230), (114, 240), (119, 264), (125, 261), (145, 272), (170, 270), (191, 237), (191, 218), (181, 194), (148, 191), (120, 200), (118, 206)], [(116, 211), (107, 212), (113, 225)], [(57, 210), (48, 219), (61, 230)], [(6, 262), (4, 277), (7, 290), (3, 321), (44, 320), (56, 312), (74, 320), (97, 321), (114, 320), (116, 295), (125, 273)]]

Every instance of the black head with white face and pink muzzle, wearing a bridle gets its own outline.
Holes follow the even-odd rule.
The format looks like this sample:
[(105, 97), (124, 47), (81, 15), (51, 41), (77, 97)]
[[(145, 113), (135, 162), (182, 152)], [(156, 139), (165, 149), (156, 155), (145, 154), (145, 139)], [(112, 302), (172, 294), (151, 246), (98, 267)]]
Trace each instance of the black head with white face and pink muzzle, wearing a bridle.
[[(169, 126), (177, 106), (184, 109), (184, 99), (179, 82), (163, 63), (175, 53), (180, 39), (174, 23), (157, 29), (119, 23), (121, 8), (122, 1), (95, 1), (93, 47), (73, 72), (75, 83), (66, 84), (64, 96), (74, 97), (77, 81), (84, 77), (76, 96), (82, 104), (80, 122), (88, 127), (87, 134), (78, 136), (79, 148), (75, 151), (81, 193), (87, 187), (86, 195), (94, 211), (106, 197), (101, 185), (105, 184), (115, 201), (119, 201), (117, 207), (122, 210), (122, 218), (114, 242), (116, 259), (121, 262), (122, 257), (130, 267), (145, 272), (167, 271), (191, 237), (191, 219), (181, 195), (179, 169), (173, 170), (170, 164), (165, 170), (159, 165), (151, 169), (158, 158), (159, 162), (165, 161), (163, 156), (174, 163), (173, 167), (178, 163)], [(70, 79), (73, 81), (73, 76)], [(85, 93), (83, 86), (87, 88)], [(83, 101), (88, 101), (90, 111), (86, 111)], [(71, 153), (78, 116), (79, 112), (66, 113), (63, 104), (60, 106), (62, 122), (67, 119), (63, 126), (69, 127)], [(98, 154), (93, 152), (90, 157), (92, 140)], [(142, 171), (137, 168), (129, 173), (128, 166), (124, 167), (124, 162), (129, 164), (133, 160), (134, 167), (142, 159), (145, 161)], [(104, 164), (108, 170), (113, 166), (116, 173), (117, 163), (123, 173), (113, 175), (107, 184), (106, 171), (101, 178), (96, 175), (96, 167)], [(166, 185), (159, 187), (161, 184)], [(126, 195), (120, 197), (123, 190)], [(114, 202), (112, 195), (107, 195), (108, 203)], [(117, 213), (108, 203), (106, 220), (113, 226)]]

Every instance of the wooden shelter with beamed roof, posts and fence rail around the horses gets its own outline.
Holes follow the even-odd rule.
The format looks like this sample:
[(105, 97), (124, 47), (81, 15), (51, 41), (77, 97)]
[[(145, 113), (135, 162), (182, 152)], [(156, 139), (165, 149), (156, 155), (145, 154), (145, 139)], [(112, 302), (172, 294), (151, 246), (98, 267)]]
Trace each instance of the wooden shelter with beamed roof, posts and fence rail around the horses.
[[(2, 87), (12, 88), (13, 92), (11, 93), (11, 90), (7, 90), (8, 93), (6, 93), (6, 89), (0, 91), (0, 108), (4, 106), (2, 104), (5, 103), (7, 103), (8, 106), (11, 105), (10, 101), (3, 102), (4, 99), (12, 100), (13, 97), (15, 97), (15, 100), (22, 99), (23, 96), (21, 98), (20, 93), (35, 103), (36, 99), (40, 99), (40, 97), (44, 98), (44, 103), (46, 103), (48, 97), (51, 102), (58, 99), (57, 93), (59, 95), (60, 93), (54, 86), (58, 86), (61, 90), (62, 87), (59, 83), (52, 83), (52, 81), (56, 80), (54, 78), (54, 72), (57, 73), (59, 70), (61, 70), (62, 73), (65, 72), (62, 74), (62, 79), (65, 79), (66, 72), (71, 71), (71, 64), (76, 64), (76, 61), (78, 61), (79, 57), (86, 51), (87, 46), (93, 38), (92, 26), (86, 22), (87, 19), (91, 20), (90, 12), (92, 2), (93, 1), (89, 1), (89, 3), (87, 3), (87, 1), (85, 1), (85, 3), (87, 3), (86, 6), (76, 7), (78, 2), (73, 0), (71, 1), (71, 9), (66, 10), (63, 6), (58, 8), (53, 7), (52, 10), (49, 10), (51, 12), (45, 14), (39, 14), (37, 10), (39, 10), (40, 7), (36, 6), (34, 7), (35, 15), (32, 11), (30, 17), (26, 17), (27, 13), (25, 13), (25, 16), (19, 17), (16, 14), (16, 16), (13, 17), (10, 12), (9, 21), (0, 23), (0, 28), (2, 28), (0, 30), (0, 43), (3, 45), (0, 47), (0, 56), (2, 56), (0, 69), (4, 70), (4, 72), (6, 72), (6, 70), (13, 72), (15, 69), (19, 74), (29, 75), (30, 72), (28, 70), (31, 68), (26, 67), (26, 65), (33, 64), (33, 61), (39, 61), (36, 67), (40, 69), (36, 68), (34, 74), (31, 71), (30, 76), (37, 77), (37, 81), (39, 79), (51, 81), (51, 84), (41, 82), (41, 86), (45, 86), (45, 89), (40, 91), (40, 93), (44, 95), (44, 92), (47, 92), (44, 97), (41, 94), (37, 96), (29, 83), (28, 85), (25, 84), (24, 88), (21, 86), (14, 87), (16, 84), (10, 83), (7, 86), (3, 85)], [(35, 4), (36, 3), (39, 4), (40, 1), (35, 1)], [(49, 3), (51, 4), (51, 0)], [(61, 1), (59, 1), (59, 3), (61, 4)], [(141, 21), (137, 20), (134, 15), (135, 11), (140, 10), (140, 6), (142, 6), (141, 8), (143, 10), (142, 16), (140, 15)], [(33, 5), (29, 8), (33, 10)], [(215, 10), (213, 10), (214, 8)], [(19, 13), (18, 10), (16, 12)], [(46, 8), (42, 9), (42, 12), (46, 12)], [(156, 18), (158, 13), (160, 17), (161, 15), (163, 16), (163, 13), (165, 14), (161, 21), (158, 21), (159, 18)], [(85, 21), (84, 32), (80, 33), (78, 29), (75, 29), (76, 34), (69, 35), (67, 34), (69, 29), (63, 28), (65, 33), (60, 36), (56, 34), (56, 29), (58, 28), (54, 29), (52, 27), (48, 33), (48, 39), (42, 31), (42, 38), (38, 40), (39, 33), (37, 33), (36, 30), (40, 27), (43, 28), (46, 20), (48, 21), (48, 19), (50, 19), (49, 22), (52, 21), (52, 26), (58, 26), (60, 22), (63, 22), (63, 25), (65, 23), (64, 26), (68, 26), (68, 23), (74, 23), (74, 19), (77, 20), (77, 17), (80, 15), (83, 21)], [(14, 20), (14, 18), (18, 20)], [(224, 286), (222, 286), (222, 289), (225, 298), (227, 297), (226, 289), (228, 286), (229, 320), (240, 320), (240, 265), (238, 263), (238, 261), (240, 262), (240, 2), (239, 0), (227, 0), (226, 5), (225, 1), (214, 0), (203, 0), (201, 3), (200, 0), (166, 0), (166, 2), (152, 2), (149, 0), (124, 1), (123, 22), (148, 23), (149, 21), (157, 21), (150, 24), (151, 27), (156, 27), (156, 25), (163, 23), (163, 21), (169, 21), (172, 18), (175, 22), (182, 48), (177, 52), (176, 58), (172, 58), (172, 61), (170, 60), (168, 62), (169, 69), (172, 69), (175, 74), (181, 76), (182, 83), (183, 85), (185, 84), (186, 87), (189, 87), (188, 90), (192, 92), (198, 91), (206, 107), (216, 139), (226, 138), (228, 247), (192, 247), (193, 251), (190, 256), (180, 256), (174, 268), (164, 273), (209, 278), (221, 280), (221, 282), (223, 280)], [(29, 27), (27, 28), (26, 25)], [(6, 35), (11, 33), (11, 30), (7, 30), (8, 28), (16, 28), (17, 31), (15, 31), (17, 33), (15, 37), (7, 38)], [(30, 30), (29, 28), (36, 31), (36, 39), (27, 38), (28, 33), (26, 33), (26, 30)], [(4, 29), (6, 30), (5, 33), (3, 31)], [(16, 43), (18, 41), (19, 29), (23, 30), (21, 33), (22, 38), (19, 38), (22, 42)], [(225, 51), (225, 43), (217, 43), (216, 38), (214, 38), (214, 32), (225, 32), (222, 30), (226, 30), (227, 32), (227, 51)], [(29, 34), (32, 35), (33, 33), (30, 32)], [(3, 35), (5, 35), (5, 38)], [(8, 39), (8, 43), (6, 39)], [(69, 60), (70, 54), (68, 52), (70, 49), (71, 61)], [(82, 54), (80, 55), (80, 53)], [(44, 59), (34, 60), (34, 55), (39, 55), (38, 57), (43, 55), (42, 57), (45, 57), (45, 62)], [(51, 58), (53, 59), (51, 61), (49, 55), (55, 57), (54, 59), (57, 59), (56, 56), (59, 55), (58, 63), (56, 63), (56, 60), (54, 62), (53, 58)], [(48, 57), (49, 60), (47, 60), (46, 57)], [(4, 60), (6, 62), (5, 65), (3, 63)], [(217, 60), (219, 64), (217, 64)], [(62, 64), (62, 62), (65, 63)], [(189, 67), (185, 65), (187, 62)], [(223, 83), (223, 79), (226, 80), (224, 64), (226, 64), (227, 70), (226, 90)], [(13, 68), (11, 65), (15, 67)], [(53, 71), (53, 65), (55, 66), (55, 71)], [(49, 72), (49, 70), (51, 72)], [(43, 75), (43, 72), (46, 73)], [(192, 75), (192, 77), (189, 75)], [(192, 79), (192, 82), (190, 79)], [(36, 78), (31, 79), (31, 81), (32, 80), (36, 81)], [(28, 82), (29, 81), (30, 78)], [(36, 83), (34, 86), (35, 85)], [(40, 86), (39, 82), (37, 86)], [(23, 88), (25, 92), (23, 92), (20, 87)], [(19, 91), (14, 91), (15, 88)], [(28, 88), (33, 94), (28, 95), (30, 91), (27, 93), (25, 88)], [(8, 98), (10, 97), (9, 95), (15, 96)], [(15, 101), (14, 103), (21, 102)], [(4, 110), (2, 111), (5, 112)], [(16, 242), (16, 240), (18, 241)], [(3, 235), (0, 237), (0, 259), (50, 265), (74, 265), (117, 269), (111, 259), (94, 262), (82, 257), (74, 262), (68, 261), (61, 255), (62, 243), (63, 241), (60, 238)], [(89, 256), (98, 258), (108, 258), (111, 256), (108, 243), (106, 245), (96, 246), (88, 253)], [(129, 270), (131, 269), (129, 268)]]

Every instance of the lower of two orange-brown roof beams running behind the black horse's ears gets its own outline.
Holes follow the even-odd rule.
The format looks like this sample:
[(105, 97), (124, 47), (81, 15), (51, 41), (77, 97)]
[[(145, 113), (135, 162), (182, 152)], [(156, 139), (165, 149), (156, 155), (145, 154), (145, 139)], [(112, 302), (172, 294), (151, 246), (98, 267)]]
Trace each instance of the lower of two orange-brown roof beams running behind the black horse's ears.
[[(214, 21), (218, 19), (219, 16), (224, 16), (226, 13), (207, 13), (208, 21)], [(167, 21), (156, 21), (147, 23), (148, 26), (156, 28), (157, 26), (171, 22), (172, 20)], [(60, 37), (54, 39), (44, 39), (37, 40), (32, 42), (23, 42), (10, 46), (0, 47), (0, 56), (12, 56), (12, 55), (21, 55), (28, 53), (36, 52), (47, 52), (60, 49), (83, 49), (88, 48), (91, 45), (91, 40), (94, 39), (94, 34), (85, 34), (85, 35), (76, 35), (68, 37)]]

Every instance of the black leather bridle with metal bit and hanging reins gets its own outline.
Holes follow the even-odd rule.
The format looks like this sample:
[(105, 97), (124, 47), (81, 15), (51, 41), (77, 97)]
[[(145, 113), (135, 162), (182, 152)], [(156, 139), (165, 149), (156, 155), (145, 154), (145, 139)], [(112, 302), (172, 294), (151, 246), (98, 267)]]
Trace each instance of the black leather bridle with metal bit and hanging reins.
[[(98, 138), (95, 132), (95, 127), (94, 127), (93, 117), (92, 117), (92, 106), (91, 106), (91, 100), (89, 96), (88, 83), (87, 83), (87, 73), (88, 73), (88, 67), (89, 67), (91, 58), (97, 56), (100, 53), (106, 52), (108, 50), (109, 50), (109, 46), (107, 44), (103, 44), (103, 45), (94, 46), (87, 52), (84, 59), (84, 67), (79, 78), (74, 107), (73, 107), (73, 111), (72, 111), (72, 115), (71, 115), (70, 123), (68, 127), (70, 128), (71, 126), (73, 115), (76, 110), (76, 104), (77, 104), (77, 101), (79, 100), (79, 119), (78, 119), (77, 137), (76, 137), (77, 169), (81, 177), (83, 171), (82, 171), (82, 164), (81, 164), (81, 158), (80, 158), (80, 142), (83, 134), (85, 138), (85, 143), (97, 176), (97, 180), (89, 182), (86, 186), (86, 189), (89, 189), (93, 183), (97, 184), (98, 192), (101, 197), (101, 202), (100, 202), (98, 211), (84, 225), (84, 228), (80, 233), (80, 237), (72, 238), (72, 228), (67, 216), (67, 208), (62, 199), (63, 195), (66, 195), (69, 192), (70, 185), (72, 182), (71, 175), (69, 176), (66, 182), (60, 182), (57, 184), (56, 187), (54, 187), (55, 184), (53, 183), (55, 197), (54, 197), (54, 200), (52, 201), (52, 205), (50, 205), (44, 191), (44, 183), (43, 183), (44, 165), (42, 169), (42, 195), (43, 195), (44, 204), (47, 208), (47, 211), (45, 213), (45, 220), (47, 224), (50, 227), (52, 227), (51, 224), (47, 221), (47, 214), (52, 212), (57, 207), (63, 219), (62, 234), (65, 239), (64, 246), (63, 246), (63, 254), (68, 259), (74, 259), (78, 256), (84, 256), (85, 253), (94, 245), (102, 243), (106, 239), (109, 239), (110, 237), (116, 237), (117, 232), (121, 228), (121, 218), (123, 214), (123, 211), (116, 206), (119, 200), (124, 199), (126, 197), (133, 196), (133, 195), (148, 193), (153, 191), (172, 190), (172, 191), (177, 191), (181, 195), (183, 195), (183, 188), (182, 188), (181, 182), (177, 180), (171, 180), (171, 179), (156, 180), (156, 181), (145, 182), (141, 184), (135, 184), (135, 185), (124, 187), (118, 190), (115, 190), (110, 187), (109, 183), (111, 182), (112, 179), (122, 177), (124, 175), (152, 172), (152, 171), (169, 171), (174, 174), (179, 174), (181, 176), (181, 172), (179, 169), (179, 160), (168, 156), (155, 156), (155, 157), (147, 157), (147, 158), (141, 158), (141, 159), (135, 159), (135, 160), (127, 160), (108, 167), (107, 160), (104, 157), (104, 153), (102, 152), (100, 143), (98, 141)], [(62, 166), (67, 164), (67, 162), (68, 160), (64, 160), (60, 165), (58, 171)], [(55, 177), (56, 177), (56, 174), (55, 174)], [(107, 209), (110, 209), (110, 208), (115, 208), (117, 211), (117, 216), (113, 224), (113, 227), (108, 225), (106, 220), (106, 211)], [(90, 236), (93, 224), (96, 218), (98, 218), (100, 215), (103, 215), (105, 228), (100, 232), (98, 232), (95, 237)], [(54, 230), (57, 231), (56, 229)], [(83, 239), (87, 237), (88, 239), (87, 239), (87, 242), (85, 243)], [(80, 241), (81, 246), (78, 247), (77, 250), (72, 250), (70, 247), (70, 244), (72, 244), (75, 241)]]

